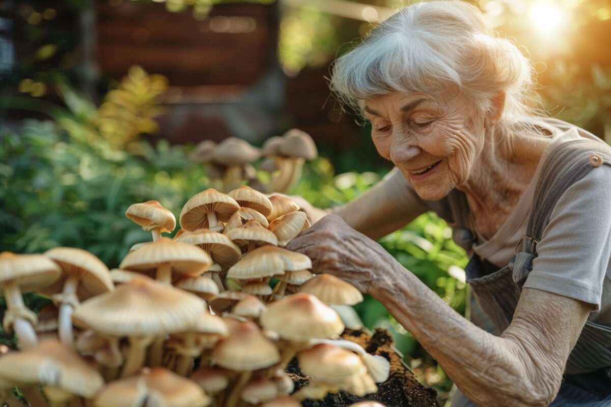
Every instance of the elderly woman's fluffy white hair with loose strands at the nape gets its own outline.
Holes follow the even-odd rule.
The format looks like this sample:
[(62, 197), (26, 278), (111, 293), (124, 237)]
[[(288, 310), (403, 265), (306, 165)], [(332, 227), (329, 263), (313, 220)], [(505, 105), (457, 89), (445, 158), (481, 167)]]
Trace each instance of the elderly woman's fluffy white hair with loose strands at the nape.
[(430, 1), (398, 10), (338, 58), (330, 87), (361, 117), (364, 99), (393, 92), (462, 93), (482, 113), (505, 93), (499, 125), (535, 133), (533, 123), (544, 113), (535, 85), (533, 64), (492, 31), (477, 7)]

